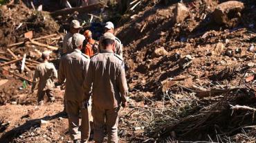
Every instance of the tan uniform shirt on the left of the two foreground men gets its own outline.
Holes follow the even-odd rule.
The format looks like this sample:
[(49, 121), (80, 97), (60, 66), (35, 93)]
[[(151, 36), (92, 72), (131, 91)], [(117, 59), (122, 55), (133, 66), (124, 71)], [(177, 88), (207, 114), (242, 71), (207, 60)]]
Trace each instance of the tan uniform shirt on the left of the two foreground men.
[(82, 52), (77, 49), (70, 54), (62, 56), (60, 59), (58, 80), (59, 83), (64, 83), (66, 79), (66, 100), (84, 100), (82, 83), (87, 73), (89, 63), (89, 56), (82, 54)]

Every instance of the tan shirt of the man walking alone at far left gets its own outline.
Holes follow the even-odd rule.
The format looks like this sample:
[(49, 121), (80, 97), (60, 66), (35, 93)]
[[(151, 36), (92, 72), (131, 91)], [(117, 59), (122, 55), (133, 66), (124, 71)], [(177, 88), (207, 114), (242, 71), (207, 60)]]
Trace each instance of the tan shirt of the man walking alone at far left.
[(53, 89), (55, 87), (53, 78), (57, 78), (57, 70), (55, 69), (53, 63), (40, 63), (35, 69), (35, 75), (33, 79), (32, 89), (35, 89), (37, 83), (37, 78), (39, 78), (38, 90), (46, 91), (47, 89)]

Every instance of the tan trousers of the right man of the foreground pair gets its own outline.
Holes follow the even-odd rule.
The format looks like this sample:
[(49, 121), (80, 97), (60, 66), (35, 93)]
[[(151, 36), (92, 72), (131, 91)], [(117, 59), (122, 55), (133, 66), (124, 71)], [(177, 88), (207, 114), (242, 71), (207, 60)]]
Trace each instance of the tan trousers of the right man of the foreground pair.
[[(107, 142), (118, 142), (118, 112), (120, 107), (115, 109), (100, 109), (93, 105), (91, 111), (93, 115), (94, 135), (93, 140), (101, 143), (104, 140), (104, 124), (107, 126)], [(105, 122), (106, 119), (106, 122)]]

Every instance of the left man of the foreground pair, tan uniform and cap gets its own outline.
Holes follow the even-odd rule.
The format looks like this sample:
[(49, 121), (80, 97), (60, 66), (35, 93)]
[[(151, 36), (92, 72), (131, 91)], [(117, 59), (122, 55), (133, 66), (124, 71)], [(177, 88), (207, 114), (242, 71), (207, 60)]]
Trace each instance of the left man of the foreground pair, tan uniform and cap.
[[(82, 92), (83, 81), (89, 67), (89, 56), (82, 54), (82, 34), (74, 34), (72, 44), (75, 50), (70, 54), (62, 56), (59, 69), (59, 83), (66, 79), (66, 90), (64, 94), (66, 112), (68, 113), (68, 131), (74, 142), (87, 142), (90, 135), (88, 101)], [(81, 132), (79, 127), (79, 114), (82, 115)]]

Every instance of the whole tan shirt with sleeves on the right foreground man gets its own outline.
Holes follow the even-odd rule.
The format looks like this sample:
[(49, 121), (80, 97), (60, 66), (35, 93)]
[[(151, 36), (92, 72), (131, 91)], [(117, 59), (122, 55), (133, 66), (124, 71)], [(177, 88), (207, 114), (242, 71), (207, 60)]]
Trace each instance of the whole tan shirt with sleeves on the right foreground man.
[(102, 50), (95, 54), (84, 80), (83, 89), (89, 98), (89, 91), (93, 85), (93, 104), (102, 109), (113, 109), (126, 101), (128, 92), (125, 78), (125, 66), (122, 58), (109, 50)]

